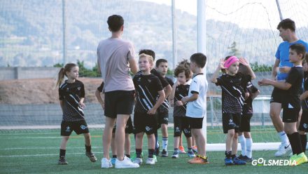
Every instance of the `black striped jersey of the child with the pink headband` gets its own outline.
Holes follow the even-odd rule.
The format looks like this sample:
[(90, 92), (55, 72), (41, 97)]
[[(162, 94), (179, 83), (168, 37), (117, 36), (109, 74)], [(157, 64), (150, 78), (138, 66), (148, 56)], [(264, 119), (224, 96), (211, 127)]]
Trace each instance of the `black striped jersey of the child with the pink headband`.
[(238, 114), (242, 112), (244, 88), (248, 81), (251, 81), (251, 76), (240, 72), (235, 76), (223, 74), (217, 78), (216, 86), (221, 86), (223, 91), (223, 113)]

